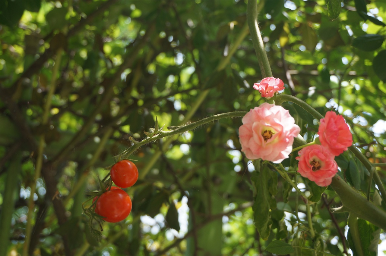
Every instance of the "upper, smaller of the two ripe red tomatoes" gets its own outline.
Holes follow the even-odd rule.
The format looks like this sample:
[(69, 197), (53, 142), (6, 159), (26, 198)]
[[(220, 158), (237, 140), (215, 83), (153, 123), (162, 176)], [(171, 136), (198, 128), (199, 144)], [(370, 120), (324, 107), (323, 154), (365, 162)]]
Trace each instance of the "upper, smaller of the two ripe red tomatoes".
[(131, 187), (138, 180), (138, 169), (129, 160), (122, 160), (110, 169), (111, 180), (118, 187)]

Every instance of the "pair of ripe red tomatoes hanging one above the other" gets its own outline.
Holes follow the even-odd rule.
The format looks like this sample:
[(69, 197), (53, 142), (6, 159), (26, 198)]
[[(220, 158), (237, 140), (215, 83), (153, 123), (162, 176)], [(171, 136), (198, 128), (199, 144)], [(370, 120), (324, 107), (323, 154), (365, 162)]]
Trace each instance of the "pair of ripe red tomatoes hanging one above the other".
[[(110, 177), (118, 187), (111, 187), (99, 196), (95, 213), (102, 216), (104, 221), (119, 222), (129, 216), (132, 207), (130, 196), (121, 188), (131, 187), (137, 182), (138, 169), (133, 162), (122, 160), (110, 169)], [(93, 202), (95, 200), (97, 197)]]

